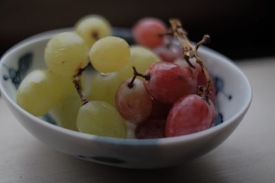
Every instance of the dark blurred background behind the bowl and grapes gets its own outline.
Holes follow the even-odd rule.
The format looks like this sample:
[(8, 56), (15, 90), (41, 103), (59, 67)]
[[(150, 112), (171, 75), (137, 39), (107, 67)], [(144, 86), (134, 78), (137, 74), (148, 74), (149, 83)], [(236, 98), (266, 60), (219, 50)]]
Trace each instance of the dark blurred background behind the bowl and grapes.
[(34, 34), (72, 27), (87, 14), (101, 14), (113, 26), (132, 27), (144, 16), (168, 23), (181, 19), (189, 37), (210, 34), (208, 47), (233, 59), (275, 56), (274, 6), (259, 0), (93, 1), (0, 0), (0, 56), (12, 45)]

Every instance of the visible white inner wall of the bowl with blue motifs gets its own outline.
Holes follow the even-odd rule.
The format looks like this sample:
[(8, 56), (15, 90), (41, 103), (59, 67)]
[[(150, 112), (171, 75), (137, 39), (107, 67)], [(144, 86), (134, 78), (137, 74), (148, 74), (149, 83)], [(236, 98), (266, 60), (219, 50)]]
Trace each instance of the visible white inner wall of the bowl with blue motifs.
[[(48, 40), (56, 32), (41, 34), (15, 45), (1, 59), (1, 89), (16, 104), (16, 92), (23, 78), (34, 69), (45, 69), (44, 49)], [(123, 34), (120, 35), (123, 37)], [(129, 38), (127, 38), (129, 40)], [(251, 88), (245, 75), (228, 58), (206, 47), (199, 48), (199, 55), (214, 78), (217, 96), (217, 118), (219, 125), (236, 116), (249, 105)], [(49, 115), (43, 119), (49, 123), (56, 121)]]

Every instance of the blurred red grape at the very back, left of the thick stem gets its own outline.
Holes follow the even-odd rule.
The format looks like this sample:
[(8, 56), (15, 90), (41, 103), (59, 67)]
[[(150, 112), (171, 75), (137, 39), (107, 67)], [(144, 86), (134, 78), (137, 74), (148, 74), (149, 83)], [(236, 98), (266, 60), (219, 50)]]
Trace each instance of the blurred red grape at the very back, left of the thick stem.
[(166, 33), (166, 25), (155, 18), (144, 18), (133, 27), (133, 37), (135, 42), (149, 48), (164, 44), (164, 36), (159, 34)]

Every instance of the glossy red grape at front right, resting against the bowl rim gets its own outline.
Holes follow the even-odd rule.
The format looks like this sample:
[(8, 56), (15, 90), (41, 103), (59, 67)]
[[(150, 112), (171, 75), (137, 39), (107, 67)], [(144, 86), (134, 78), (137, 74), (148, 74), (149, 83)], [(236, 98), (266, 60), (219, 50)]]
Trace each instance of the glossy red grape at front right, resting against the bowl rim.
[(213, 103), (199, 95), (182, 97), (171, 108), (166, 120), (166, 137), (201, 132), (210, 127), (213, 119)]

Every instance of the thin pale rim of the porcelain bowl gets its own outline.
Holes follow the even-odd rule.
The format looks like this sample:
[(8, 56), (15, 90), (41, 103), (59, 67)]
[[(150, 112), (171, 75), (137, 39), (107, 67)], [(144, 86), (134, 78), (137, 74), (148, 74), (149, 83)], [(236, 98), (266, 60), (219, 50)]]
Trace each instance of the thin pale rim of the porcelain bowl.
[[(122, 28), (123, 29), (123, 28)], [(44, 41), (50, 39), (54, 34), (58, 34), (61, 32), (72, 32), (72, 27), (62, 28), (62, 29), (53, 29), (47, 32), (42, 32), (40, 34), (36, 34), (34, 36), (30, 36), (29, 38), (26, 38), (24, 40), (21, 40), (16, 45), (12, 46), (10, 49), (5, 51), (5, 53), (0, 58), (0, 71), (2, 70), (2, 67), (4, 65), (6, 58), (10, 56), (10, 54), (17, 52), (21, 48), (25, 47), (26, 45), (32, 45), (36, 42)], [(173, 137), (166, 137), (166, 138), (148, 138), (148, 139), (136, 139), (136, 138), (113, 138), (113, 137), (107, 137), (107, 136), (96, 136), (93, 134), (85, 134), (82, 132), (76, 132), (74, 130), (66, 129), (65, 127), (61, 127), (58, 125), (54, 125), (52, 123), (48, 123), (47, 121), (40, 119), (39, 117), (35, 117), (34, 115), (30, 114), (29, 112), (23, 110), (15, 101), (13, 101), (8, 93), (5, 91), (5, 88), (3, 87), (3, 80), (0, 80), (0, 91), (3, 97), (5, 97), (6, 101), (9, 102), (14, 108), (16, 108), (19, 112), (23, 113), (28, 119), (36, 121), (39, 123), (39, 125), (43, 125), (43, 127), (49, 128), (49, 130), (54, 130), (57, 132), (61, 132), (62, 134), (66, 134), (69, 136), (74, 136), (76, 138), (83, 138), (87, 141), (101, 141), (104, 143), (113, 143), (113, 144), (120, 144), (120, 145), (171, 145), (175, 143), (182, 143), (186, 141), (195, 141), (198, 138), (203, 138), (205, 136), (208, 136), (208, 134), (212, 134), (214, 132), (217, 132), (219, 130), (222, 130), (223, 128), (227, 127), (241, 117), (242, 114), (245, 114), (245, 112), (250, 107), (250, 104), (252, 102), (252, 87), (250, 85), (250, 82), (248, 80), (248, 77), (245, 76), (243, 71), (239, 68), (239, 66), (236, 65), (230, 58), (223, 56), (221, 53), (214, 51), (213, 49), (210, 49), (206, 46), (201, 46), (200, 50), (201, 53), (206, 53), (208, 55), (217, 56), (221, 58), (221, 62), (227, 62), (232, 66), (241, 76), (243, 77), (243, 80), (245, 80), (245, 83), (248, 85), (248, 101), (245, 102), (241, 110), (236, 112), (232, 117), (227, 119), (226, 121), (223, 121), (223, 123), (216, 125), (214, 127), (210, 127), (207, 130), (203, 130), (201, 132), (196, 132), (193, 134), (187, 134), (184, 136), (173, 136)], [(17, 119), (19, 121), (19, 119)]]

